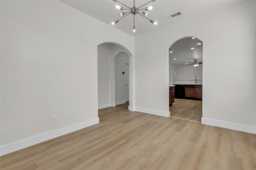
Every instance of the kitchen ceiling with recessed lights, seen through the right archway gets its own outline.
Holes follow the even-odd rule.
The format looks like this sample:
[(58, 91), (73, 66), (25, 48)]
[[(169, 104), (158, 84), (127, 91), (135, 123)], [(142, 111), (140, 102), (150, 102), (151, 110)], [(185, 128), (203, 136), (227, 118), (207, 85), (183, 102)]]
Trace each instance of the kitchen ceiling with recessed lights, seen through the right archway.
[[(191, 49), (193, 48), (193, 49)], [(199, 39), (186, 37), (176, 41), (171, 47), (169, 52), (169, 63), (172, 65), (186, 65), (203, 62), (203, 42)]]

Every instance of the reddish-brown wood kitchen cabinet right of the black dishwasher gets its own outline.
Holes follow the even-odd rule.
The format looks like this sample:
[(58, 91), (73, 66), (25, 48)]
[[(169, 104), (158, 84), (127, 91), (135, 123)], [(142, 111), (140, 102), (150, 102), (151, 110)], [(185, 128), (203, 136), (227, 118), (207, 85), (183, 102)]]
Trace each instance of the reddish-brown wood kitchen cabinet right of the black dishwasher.
[(185, 98), (192, 100), (202, 100), (202, 85), (186, 85)]

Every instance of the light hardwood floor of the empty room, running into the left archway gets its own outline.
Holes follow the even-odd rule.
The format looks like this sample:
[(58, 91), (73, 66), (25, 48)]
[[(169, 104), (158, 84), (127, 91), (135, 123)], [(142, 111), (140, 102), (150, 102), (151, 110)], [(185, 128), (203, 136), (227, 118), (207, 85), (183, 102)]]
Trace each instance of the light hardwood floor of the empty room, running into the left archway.
[(99, 110), (100, 123), (1, 156), (1, 170), (255, 170), (256, 135), (172, 117)]

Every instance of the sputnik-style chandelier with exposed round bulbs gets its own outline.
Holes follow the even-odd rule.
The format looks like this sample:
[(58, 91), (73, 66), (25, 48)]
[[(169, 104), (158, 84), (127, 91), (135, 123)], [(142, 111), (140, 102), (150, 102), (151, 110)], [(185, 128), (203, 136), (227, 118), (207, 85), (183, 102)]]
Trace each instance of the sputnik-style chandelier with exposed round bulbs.
[[(118, 0), (113, 0), (113, 1), (114, 1), (114, 2), (119, 2)], [(150, 2), (155, 2), (155, 1), (156, 1), (156, 0), (150, 0), (148, 3), (150, 3)], [(122, 4), (121, 2), (119, 2), (119, 3)], [(146, 3), (146, 4), (148, 4), (148, 3)], [(146, 4), (140, 6), (139, 8), (136, 8), (136, 6), (135, 6), (135, 0), (133, 0), (133, 7), (132, 7), (132, 8), (126, 6), (125, 4), (122, 4), (122, 5), (126, 6), (126, 7), (129, 8), (129, 9), (126, 9), (126, 8), (124, 8), (123, 6), (120, 6), (120, 5), (116, 4), (116, 9), (117, 9), (117, 10), (128, 10), (128, 12), (121, 12), (121, 13), (120, 13), (120, 16), (123, 16), (122, 18), (124, 18), (124, 17), (126, 17), (126, 16), (128, 16), (128, 15), (130, 15), (130, 14), (133, 14), (133, 27), (132, 27), (133, 32), (135, 32), (135, 14), (140, 14), (141, 16), (143, 16), (144, 18), (146, 18), (145, 16), (148, 15), (148, 13), (147, 13), (146, 11), (148, 11), (148, 10), (151, 11), (151, 10), (153, 9), (153, 6), (147, 6), (147, 7), (145, 7), (145, 8), (140, 9), (141, 7), (145, 6)], [(145, 10), (145, 11), (140, 12), (140, 10)], [(122, 18), (120, 18), (119, 20), (121, 20)], [(148, 19), (148, 18), (146, 18), (146, 19)], [(111, 25), (114, 25), (115, 23), (118, 23), (119, 20), (114, 20), (113, 22), (111, 22)], [(152, 19), (151, 19), (151, 20), (148, 19), (148, 20), (149, 20), (151, 23), (154, 23), (154, 25), (157, 25), (157, 22), (156, 22), (156, 21), (154, 21), (154, 20), (152, 20)]]

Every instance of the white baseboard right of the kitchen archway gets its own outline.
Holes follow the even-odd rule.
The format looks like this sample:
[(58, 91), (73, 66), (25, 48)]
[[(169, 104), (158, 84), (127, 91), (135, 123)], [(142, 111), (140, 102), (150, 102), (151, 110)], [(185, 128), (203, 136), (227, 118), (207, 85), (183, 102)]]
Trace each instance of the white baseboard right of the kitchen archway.
[(223, 128), (227, 128), (227, 129), (233, 129), (236, 131), (242, 131), (242, 132), (256, 134), (255, 126), (241, 125), (241, 124), (237, 124), (237, 123), (230, 123), (230, 122), (226, 122), (226, 121), (218, 121), (218, 120), (206, 119), (206, 118), (202, 118), (201, 121), (202, 121), (202, 124), (204, 124), (204, 125), (223, 127)]

